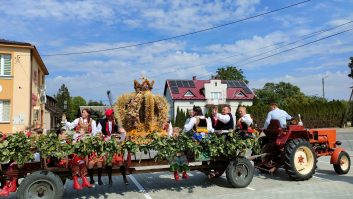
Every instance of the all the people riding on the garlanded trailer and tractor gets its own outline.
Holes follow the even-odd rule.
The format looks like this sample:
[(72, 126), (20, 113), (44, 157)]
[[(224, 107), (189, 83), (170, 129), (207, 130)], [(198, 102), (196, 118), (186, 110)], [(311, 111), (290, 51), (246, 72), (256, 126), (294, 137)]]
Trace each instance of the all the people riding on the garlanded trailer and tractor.
[[(286, 120), (290, 119), (288, 113), (280, 110), (276, 103), (272, 103), (270, 108), (271, 111), (267, 115), (264, 128), (268, 126), (271, 119), (277, 119), (282, 127), (285, 126)], [(167, 130), (169, 136), (174, 138), (177, 138), (180, 133), (192, 131), (192, 139), (201, 140), (208, 133), (230, 130), (235, 127), (243, 133), (243, 136), (251, 137), (252, 117), (250, 114), (247, 114), (246, 107), (239, 106), (237, 111), (240, 118), (236, 120), (236, 124), (234, 125), (234, 119), (229, 105), (223, 106), (221, 113), (218, 111), (218, 106), (212, 107), (212, 114), (207, 118), (204, 116), (201, 107), (194, 106), (192, 110), (188, 110), (189, 118), (186, 120), (183, 129), (178, 127), (173, 128), (169, 122), (165, 125), (165, 130)], [(66, 144), (72, 144), (67, 139), (67, 130), (75, 131), (72, 142), (78, 142), (84, 139), (85, 136), (101, 136), (104, 140), (117, 139), (119, 142), (122, 142), (126, 136), (125, 129), (120, 127), (115, 119), (113, 109), (106, 110), (105, 118), (100, 119), (98, 122), (90, 117), (90, 111), (88, 109), (83, 109), (81, 117), (75, 119), (73, 122), (66, 121), (64, 124), (64, 127), (61, 128), (57, 134), (62, 143)], [(5, 139), (6, 134), (0, 133), (0, 142)], [(108, 174), (108, 184), (112, 186), (113, 166), (120, 168), (124, 183), (126, 185), (129, 184), (125, 174), (126, 162), (124, 161), (124, 154), (114, 154), (111, 162), (107, 162), (105, 157), (99, 157), (96, 153), (92, 153), (87, 157), (72, 154), (68, 159), (50, 159), (48, 164), (57, 167), (69, 167), (72, 172), (73, 188), (75, 190), (81, 190), (85, 187), (94, 187), (94, 168), (97, 168), (98, 185), (103, 185), (102, 171), (105, 169)], [(171, 170), (174, 172), (175, 180), (179, 180), (178, 172), (182, 172), (183, 179), (188, 178), (186, 173), (188, 170), (188, 162), (182, 152), (178, 153), (176, 158), (170, 160), (170, 165)], [(18, 170), (18, 167), (16, 162), (11, 162), (3, 164), (1, 169), (7, 171), (7, 179), (1, 179), (0, 196), (9, 196), (11, 192), (15, 192), (17, 189), (18, 176), (16, 172), (11, 171)], [(89, 176), (89, 180), (86, 178), (87, 175)], [(79, 178), (82, 179), (81, 184), (79, 183)]]

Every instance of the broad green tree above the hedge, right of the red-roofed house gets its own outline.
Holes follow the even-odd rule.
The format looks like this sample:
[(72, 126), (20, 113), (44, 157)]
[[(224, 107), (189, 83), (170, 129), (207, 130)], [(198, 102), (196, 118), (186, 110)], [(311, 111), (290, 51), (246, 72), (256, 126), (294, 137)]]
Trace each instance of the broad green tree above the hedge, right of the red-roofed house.
[(254, 91), (257, 96), (254, 104), (277, 102), (280, 105), (287, 105), (292, 103), (306, 103), (309, 101), (309, 97), (306, 97), (298, 86), (292, 85), (291, 83), (279, 82), (276, 84), (268, 82), (262, 89), (255, 89)]

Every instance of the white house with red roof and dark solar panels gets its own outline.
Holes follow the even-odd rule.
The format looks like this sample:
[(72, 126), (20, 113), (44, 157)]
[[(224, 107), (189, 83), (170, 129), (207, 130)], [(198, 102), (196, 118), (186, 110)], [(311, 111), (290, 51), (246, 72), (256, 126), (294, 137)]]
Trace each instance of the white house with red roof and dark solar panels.
[(211, 105), (229, 104), (233, 118), (239, 105), (251, 106), (255, 97), (242, 80), (166, 80), (164, 96), (170, 105), (170, 118), (176, 117), (177, 108), (187, 111), (200, 106), (206, 113)]

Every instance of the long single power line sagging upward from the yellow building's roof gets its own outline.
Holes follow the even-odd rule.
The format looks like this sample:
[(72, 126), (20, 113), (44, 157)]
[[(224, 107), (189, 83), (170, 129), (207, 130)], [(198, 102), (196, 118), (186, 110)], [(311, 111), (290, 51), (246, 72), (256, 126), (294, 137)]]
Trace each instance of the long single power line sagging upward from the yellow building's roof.
[(119, 50), (119, 49), (124, 49), (124, 48), (131, 48), (131, 47), (137, 47), (137, 46), (142, 46), (142, 45), (147, 45), (147, 44), (158, 43), (158, 42), (161, 42), (161, 41), (167, 41), (167, 40), (172, 40), (172, 39), (176, 39), (176, 38), (180, 38), (180, 37), (186, 37), (186, 36), (189, 36), (189, 35), (194, 35), (194, 34), (198, 34), (198, 33), (201, 33), (201, 32), (206, 32), (206, 31), (218, 29), (218, 28), (221, 28), (221, 27), (229, 26), (229, 25), (232, 25), (232, 24), (236, 24), (236, 23), (239, 23), (239, 22), (247, 21), (247, 20), (250, 20), (250, 19), (258, 18), (258, 17), (264, 16), (264, 15), (268, 15), (268, 14), (271, 14), (271, 13), (274, 13), (274, 12), (278, 12), (278, 11), (285, 10), (285, 9), (288, 9), (288, 8), (291, 8), (291, 7), (295, 7), (295, 6), (298, 6), (298, 5), (301, 5), (301, 4), (305, 4), (305, 3), (308, 3), (310, 1), (311, 0), (300, 1), (300, 2), (297, 2), (297, 3), (294, 3), (294, 4), (290, 4), (290, 5), (281, 7), (281, 8), (277, 8), (277, 9), (274, 9), (274, 10), (271, 10), (271, 11), (263, 12), (263, 13), (260, 13), (260, 14), (257, 14), (257, 15), (253, 15), (253, 16), (250, 16), (250, 17), (246, 17), (246, 18), (243, 18), (243, 19), (239, 19), (239, 20), (236, 20), (236, 21), (231, 21), (231, 22), (228, 22), (228, 23), (225, 23), (225, 24), (221, 24), (221, 25), (218, 25), (218, 26), (213, 26), (213, 27), (210, 27), (210, 28), (205, 28), (205, 29), (201, 29), (201, 30), (197, 30), (197, 31), (193, 31), (193, 32), (189, 32), (189, 33), (185, 33), (185, 34), (181, 34), (181, 35), (176, 35), (176, 36), (172, 36), (172, 37), (167, 37), (167, 38), (163, 38), (163, 39), (157, 39), (157, 40), (153, 40), (153, 41), (147, 41), (147, 42), (142, 42), (142, 43), (138, 43), (138, 44), (120, 46), (120, 47), (115, 47), (115, 48), (106, 48), (106, 49), (100, 49), (100, 50), (81, 51), (81, 52), (56, 53), (56, 54), (47, 54), (47, 55), (42, 55), (42, 56), (49, 57), (49, 56), (66, 56), (66, 55), (89, 54), (89, 53)]

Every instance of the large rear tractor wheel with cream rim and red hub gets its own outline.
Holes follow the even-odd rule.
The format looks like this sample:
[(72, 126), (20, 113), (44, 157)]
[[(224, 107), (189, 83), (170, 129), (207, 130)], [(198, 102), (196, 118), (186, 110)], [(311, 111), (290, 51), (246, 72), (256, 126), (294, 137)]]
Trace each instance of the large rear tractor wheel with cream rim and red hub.
[(298, 138), (286, 144), (284, 167), (290, 178), (297, 181), (312, 178), (316, 163), (316, 155), (308, 141)]

